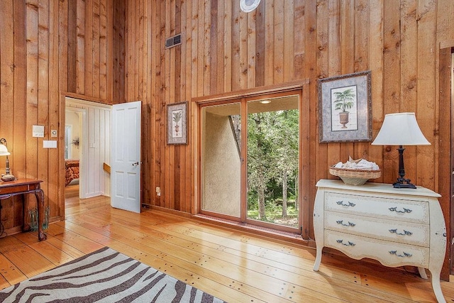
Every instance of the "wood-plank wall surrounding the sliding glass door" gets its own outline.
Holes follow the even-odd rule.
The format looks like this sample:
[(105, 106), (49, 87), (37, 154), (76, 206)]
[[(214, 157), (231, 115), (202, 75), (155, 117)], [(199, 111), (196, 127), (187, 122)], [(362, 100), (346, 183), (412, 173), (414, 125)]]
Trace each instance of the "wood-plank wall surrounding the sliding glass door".
[[(165, 108), (179, 101), (309, 79), (309, 201), (328, 165), (353, 158), (377, 162), (378, 182), (397, 177), (394, 148), (370, 143), (319, 144), (316, 79), (372, 71), (372, 131), (384, 115), (416, 112), (432, 144), (405, 151), (407, 177), (438, 190), (438, 53), (454, 38), (450, 0), (262, 0), (243, 13), (239, 0), (146, 1), (126, 4), (126, 99), (143, 110), (143, 202), (194, 212), (196, 104), (189, 145), (165, 144)], [(182, 33), (182, 45), (165, 39)], [(446, 176), (448, 177), (448, 176)], [(161, 187), (157, 197), (155, 187)], [(446, 203), (446, 202), (445, 202)], [(311, 235), (313, 236), (313, 235)]]

